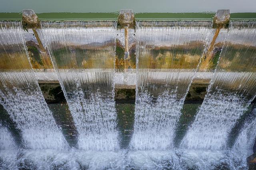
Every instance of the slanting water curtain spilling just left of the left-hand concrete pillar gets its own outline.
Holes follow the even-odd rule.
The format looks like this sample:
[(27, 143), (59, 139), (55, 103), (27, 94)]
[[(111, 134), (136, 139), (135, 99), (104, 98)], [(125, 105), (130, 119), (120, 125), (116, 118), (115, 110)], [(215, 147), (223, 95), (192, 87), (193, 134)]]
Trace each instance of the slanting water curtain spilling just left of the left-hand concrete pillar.
[(0, 22), (0, 104), (22, 132), (26, 148), (61, 149), (57, 127), (28, 59), (20, 22)]

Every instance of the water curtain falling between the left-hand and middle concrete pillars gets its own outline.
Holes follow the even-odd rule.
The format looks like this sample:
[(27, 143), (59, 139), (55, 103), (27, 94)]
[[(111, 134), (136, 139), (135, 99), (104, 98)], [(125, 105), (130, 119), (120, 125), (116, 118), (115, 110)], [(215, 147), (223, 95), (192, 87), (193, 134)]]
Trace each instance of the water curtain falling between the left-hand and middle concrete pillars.
[[(102, 22), (101, 22), (102, 23)], [(114, 102), (114, 22), (42, 23), (74, 123), (78, 148), (118, 148)]]

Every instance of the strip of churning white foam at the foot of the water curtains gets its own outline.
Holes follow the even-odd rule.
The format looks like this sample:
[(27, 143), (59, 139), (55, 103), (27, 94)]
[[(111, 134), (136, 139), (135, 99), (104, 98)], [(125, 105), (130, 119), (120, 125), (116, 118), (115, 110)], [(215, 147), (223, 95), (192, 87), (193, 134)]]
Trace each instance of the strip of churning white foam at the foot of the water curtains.
[[(9, 157), (9, 160), (10, 157)], [(84, 151), (71, 149), (20, 150), (20, 156), (6, 167), (10, 169), (246, 169), (240, 155), (235, 152), (211, 150), (138, 150), (126, 151)], [(1, 164), (1, 162), (0, 162)], [(1, 166), (0, 166), (1, 167)]]

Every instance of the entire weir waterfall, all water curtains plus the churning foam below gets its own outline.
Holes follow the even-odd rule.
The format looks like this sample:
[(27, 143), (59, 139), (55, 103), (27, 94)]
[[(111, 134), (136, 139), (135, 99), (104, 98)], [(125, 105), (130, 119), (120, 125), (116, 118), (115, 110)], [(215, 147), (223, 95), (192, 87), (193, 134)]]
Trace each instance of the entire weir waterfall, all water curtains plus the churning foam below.
[[(176, 126), (182, 113), (186, 112), (185, 119), (192, 117), (187, 115), (195, 106), (184, 111), (184, 100), (215, 30), (211, 21), (136, 22), (136, 103), (129, 149), (119, 146), (114, 101), (116, 22), (42, 22), (41, 26), (36, 31), (73, 117), (77, 147), (68, 147), (44, 100), (23, 39), (29, 33), (24, 34), (20, 22), (0, 22), (0, 105), (8, 113), (0, 122), (0, 169), (247, 167), (244, 153), (252, 153), (256, 109), (246, 123), (241, 115), (256, 96), (255, 22), (230, 23), (207, 95), (180, 148), (174, 147), (175, 132), (180, 130)], [(50, 108), (60, 119), (69, 114), (62, 103), (56, 105), (60, 107)], [(127, 118), (125, 126), (132, 126), (133, 113), (126, 111), (118, 116)], [(239, 118), (236, 125), (242, 129), (231, 150), (226, 142)], [(64, 120), (68, 129), (70, 119)]]

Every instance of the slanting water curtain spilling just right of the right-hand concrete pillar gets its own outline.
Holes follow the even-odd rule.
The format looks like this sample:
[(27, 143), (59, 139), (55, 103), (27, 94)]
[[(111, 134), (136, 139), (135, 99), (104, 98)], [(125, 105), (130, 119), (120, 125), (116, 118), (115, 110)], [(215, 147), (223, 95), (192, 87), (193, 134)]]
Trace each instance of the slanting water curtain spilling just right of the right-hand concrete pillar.
[(181, 146), (221, 150), (256, 95), (256, 23), (232, 22), (196, 119)]

